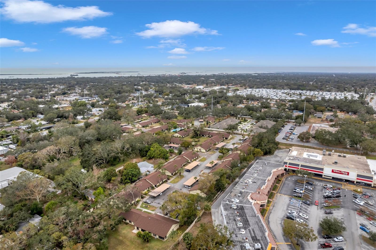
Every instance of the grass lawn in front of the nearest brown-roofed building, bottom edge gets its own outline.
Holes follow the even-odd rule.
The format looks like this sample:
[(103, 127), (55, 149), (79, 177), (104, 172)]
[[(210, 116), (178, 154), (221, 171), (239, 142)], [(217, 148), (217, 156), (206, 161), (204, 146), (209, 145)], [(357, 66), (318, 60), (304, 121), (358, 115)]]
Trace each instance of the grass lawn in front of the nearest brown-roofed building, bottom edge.
[(171, 239), (162, 241), (160, 239), (155, 239), (154, 237), (152, 237), (149, 242), (143, 242), (143, 240), (138, 238), (135, 233), (132, 233), (133, 229), (135, 229), (135, 227), (131, 224), (120, 224), (116, 231), (110, 231), (108, 237), (108, 249), (166, 250), (174, 243)]

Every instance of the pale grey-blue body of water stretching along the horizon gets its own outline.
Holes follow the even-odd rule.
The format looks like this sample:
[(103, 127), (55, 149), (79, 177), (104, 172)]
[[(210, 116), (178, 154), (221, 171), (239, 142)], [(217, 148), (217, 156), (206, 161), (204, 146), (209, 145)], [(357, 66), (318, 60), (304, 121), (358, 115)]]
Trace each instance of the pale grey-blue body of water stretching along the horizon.
[(375, 67), (161, 67), (161, 68), (1, 68), (0, 78), (105, 77), (130, 75), (257, 74), (267, 72), (376, 73)]

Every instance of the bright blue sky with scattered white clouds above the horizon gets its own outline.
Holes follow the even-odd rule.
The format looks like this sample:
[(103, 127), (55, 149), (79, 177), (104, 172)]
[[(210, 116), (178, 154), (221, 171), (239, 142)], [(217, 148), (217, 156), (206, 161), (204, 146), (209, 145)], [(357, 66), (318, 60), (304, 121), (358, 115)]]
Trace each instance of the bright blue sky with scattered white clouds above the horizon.
[(376, 1), (2, 1), (0, 29), (2, 68), (376, 66)]

